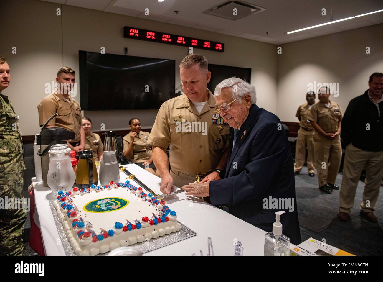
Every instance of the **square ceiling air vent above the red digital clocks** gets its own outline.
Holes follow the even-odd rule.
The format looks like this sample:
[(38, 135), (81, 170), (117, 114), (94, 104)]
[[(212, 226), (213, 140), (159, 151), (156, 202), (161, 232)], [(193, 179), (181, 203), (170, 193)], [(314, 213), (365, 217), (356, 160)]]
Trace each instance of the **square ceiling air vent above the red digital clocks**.
[[(237, 9), (237, 10), (234, 10)], [(262, 12), (266, 10), (265, 8), (255, 6), (250, 3), (241, 2), (241, 1), (228, 1), (216, 7), (213, 7), (204, 13), (220, 16), (221, 18), (227, 18), (229, 20), (238, 20), (245, 16), (252, 15), (254, 13)], [(236, 15), (234, 13), (236, 11)]]

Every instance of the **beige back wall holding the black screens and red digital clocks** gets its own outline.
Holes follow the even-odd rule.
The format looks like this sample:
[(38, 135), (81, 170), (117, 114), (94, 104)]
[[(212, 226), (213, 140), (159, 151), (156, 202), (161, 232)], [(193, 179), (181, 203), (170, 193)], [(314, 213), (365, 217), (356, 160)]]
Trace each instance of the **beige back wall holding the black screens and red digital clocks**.
[[(99, 52), (104, 46), (106, 53), (123, 54), (123, 47), (127, 46), (128, 54), (132, 56), (174, 59), (176, 87), (180, 85), (177, 66), (187, 55), (187, 48), (123, 38), (123, 26), (225, 43), (224, 53), (200, 49), (194, 52), (203, 54), (213, 64), (252, 68), (251, 81), (257, 89), (257, 104), (276, 113), (275, 45), (50, 2), (13, 0), (3, 1), (1, 5), (0, 54), (7, 58), (11, 67), (11, 83), (3, 94), (10, 97), (16, 113), (20, 115), (23, 135), (39, 132), (37, 105), (46, 96), (45, 84), (54, 80), (57, 69), (65, 65), (79, 73), (79, 50)], [(56, 8), (62, 8), (61, 17), (56, 16)], [(17, 54), (11, 53), (13, 46), (17, 47)], [(76, 80), (80, 81), (79, 75)], [(80, 99), (79, 94), (75, 99)], [(157, 110), (84, 111), (84, 115), (92, 119), (94, 130), (100, 130), (101, 123), (105, 124), (105, 130), (127, 129), (131, 117), (141, 118), (142, 126), (150, 128), (156, 114)]]

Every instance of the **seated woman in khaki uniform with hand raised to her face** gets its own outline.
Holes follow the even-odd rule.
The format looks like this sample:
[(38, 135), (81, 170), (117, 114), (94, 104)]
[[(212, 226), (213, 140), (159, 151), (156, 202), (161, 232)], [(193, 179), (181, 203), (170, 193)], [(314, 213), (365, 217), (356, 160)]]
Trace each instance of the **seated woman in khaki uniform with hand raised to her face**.
[(123, 137), (124, 157), (156, 174), (157, 170), (152, 160), (152, 145), (147, 142), (149, 132), (141, 131), (141, 121), (135, 117), (129, 120), (129, 128), (131, 131)]

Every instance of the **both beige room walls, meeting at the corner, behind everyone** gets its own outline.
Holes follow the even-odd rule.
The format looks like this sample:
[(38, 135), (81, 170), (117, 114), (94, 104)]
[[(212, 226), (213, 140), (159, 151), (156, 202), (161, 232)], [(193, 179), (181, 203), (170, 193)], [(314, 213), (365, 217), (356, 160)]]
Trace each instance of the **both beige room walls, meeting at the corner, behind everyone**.
[[(56, 16), (62, 8), (62, 16)], [(123, 26), (134, 26), (173, 34), (195, 36), (225, 43), (225, 52), (195, 49), (213, 64), (252, 68), (258, 106), (274, 112), (283, 121), (298, 120), (298, 105), (305, 102), (307, 84), (339, 83), (339, 97), (331, 100), (343, 110), (353, 97), (367, 88), (370, 74), (383, 71), (383, 24), (343, 31), (317, 38), (287, 43), (282, 54), (277, 46), (234, 36), (171, 25), (142, 18), (117, 15), (37, 0), (13, 0), (2, 3), (0, 54), (11, 67), (11, 84), (3, 91), (20, 115), (23, 135), (39, 132), (37, 105), (46, 95), (45, 84), (54, 80), (62, 65), (79, 71), (78, 51), (128, 54), (176, 61), (176, 87), (180, 85), (178, 64), (187, 48), (123, 38)], [(16, 46), (17, 54), (12, 54)], [(365, 53), (366, 46), (371, 54)], [(79, 73), (79, 72), (78, 72)], [(212, 74), (214, 76), (214, 74)], [(76, 77), (80, 81), (79, 75)], [(211, 89), (212, 91), (214, 89)], [(77, 97), (80, 100), (77, 84)], [(84, 111), (93, 121), (93, 129), (127, 129), (131, 117), (141, 118), (151, 128), (157, 110)]]

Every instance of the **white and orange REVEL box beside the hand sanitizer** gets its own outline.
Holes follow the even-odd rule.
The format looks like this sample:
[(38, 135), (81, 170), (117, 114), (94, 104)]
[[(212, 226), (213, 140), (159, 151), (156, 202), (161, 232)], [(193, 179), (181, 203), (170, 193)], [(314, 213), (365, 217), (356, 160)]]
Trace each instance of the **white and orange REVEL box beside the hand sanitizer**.
[(290, 250), (290, 256), (354, 256), (324, 242), (309, 238)]

